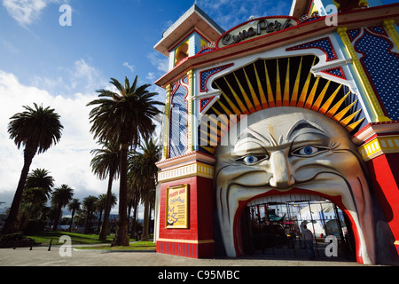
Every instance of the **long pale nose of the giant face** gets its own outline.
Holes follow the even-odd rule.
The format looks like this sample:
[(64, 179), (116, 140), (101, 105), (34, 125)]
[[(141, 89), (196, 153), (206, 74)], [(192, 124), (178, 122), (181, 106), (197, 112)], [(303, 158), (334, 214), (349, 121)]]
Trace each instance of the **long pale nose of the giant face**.
[(273, 187), (285, 189), (295, 184), (291, 165), (284, 151), (273, 151), (270, 154), (270, 170), (272, 177), (269, 183)]

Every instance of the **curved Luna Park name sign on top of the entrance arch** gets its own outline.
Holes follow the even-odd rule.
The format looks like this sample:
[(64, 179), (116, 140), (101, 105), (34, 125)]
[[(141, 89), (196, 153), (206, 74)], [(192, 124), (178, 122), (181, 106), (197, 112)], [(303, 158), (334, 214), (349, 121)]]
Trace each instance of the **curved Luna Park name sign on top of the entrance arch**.
[(240, 43), (257, 36), (264, 36), (285, 28), (291, 28), (297, 24), (297, 20), (291, 17), (265, 17), (250, 20), (224, 33), (219, 38), (217, 46), (220, 48)]

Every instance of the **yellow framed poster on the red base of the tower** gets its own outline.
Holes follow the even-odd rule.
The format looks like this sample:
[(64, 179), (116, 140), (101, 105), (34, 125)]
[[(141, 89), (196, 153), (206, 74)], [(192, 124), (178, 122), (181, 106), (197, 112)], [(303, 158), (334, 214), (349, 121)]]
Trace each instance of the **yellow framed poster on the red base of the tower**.
[(188, 228), (189, 185), (167, 188), (167, 209), (165, 226), (170, 229)]

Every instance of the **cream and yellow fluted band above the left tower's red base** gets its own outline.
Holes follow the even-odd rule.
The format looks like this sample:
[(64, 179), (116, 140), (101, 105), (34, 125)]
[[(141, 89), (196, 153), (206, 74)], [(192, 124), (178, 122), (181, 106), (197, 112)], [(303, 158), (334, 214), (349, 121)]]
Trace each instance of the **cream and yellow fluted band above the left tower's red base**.
[(214, 178), (214, 167), (202, 162), (193, 162), (182, 167), (158, 172), (158, 181), (166, 182), (184, 177)]

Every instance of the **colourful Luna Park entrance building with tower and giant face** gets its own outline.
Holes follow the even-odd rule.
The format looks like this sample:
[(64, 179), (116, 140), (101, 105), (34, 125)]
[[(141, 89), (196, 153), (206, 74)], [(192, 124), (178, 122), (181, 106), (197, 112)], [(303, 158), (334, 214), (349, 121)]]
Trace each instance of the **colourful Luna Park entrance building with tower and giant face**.
[(228, 31), (194, 4), (168, 28), (157, 251), (300, 256), (307, 224), (398, 264), (397, 23), (399, 4), (309, 0)]

